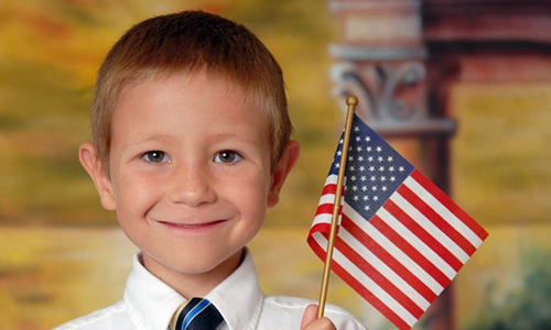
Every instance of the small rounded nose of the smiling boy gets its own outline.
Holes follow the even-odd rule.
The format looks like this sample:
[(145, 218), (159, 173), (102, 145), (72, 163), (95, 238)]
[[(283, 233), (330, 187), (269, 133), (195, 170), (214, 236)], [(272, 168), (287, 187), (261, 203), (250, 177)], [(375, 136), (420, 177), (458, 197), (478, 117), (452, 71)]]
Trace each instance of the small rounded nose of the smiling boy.
[(180, 166), (170, 190), (170, 200), (197, 207), (216, 200), (216, 194), (210, 185), (208, 170), (204, 166)]

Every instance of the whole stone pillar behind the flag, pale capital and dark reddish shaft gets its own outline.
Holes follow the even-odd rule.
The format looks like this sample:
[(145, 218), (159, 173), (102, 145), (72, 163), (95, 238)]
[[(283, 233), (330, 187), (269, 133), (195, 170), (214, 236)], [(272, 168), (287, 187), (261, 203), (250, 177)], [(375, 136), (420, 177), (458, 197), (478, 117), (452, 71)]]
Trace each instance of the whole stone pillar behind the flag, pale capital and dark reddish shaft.
[[(329, 0), (329, 11), (341, 23), (341, 38), (329, 46), (336, 59), (331, 76), (338, 103), (356, 95), (357, 114), (392, 144), (414, 145), (406, 150), (407, 157), (446, 191), (455, 124), (429, 106), (432, 82), (421, 6), (421, 0)], [(452, 301), (449, 288), (415, 329), (453, 330)], [(377, 328), (371, 318), (366, 316), (368, 324)]]

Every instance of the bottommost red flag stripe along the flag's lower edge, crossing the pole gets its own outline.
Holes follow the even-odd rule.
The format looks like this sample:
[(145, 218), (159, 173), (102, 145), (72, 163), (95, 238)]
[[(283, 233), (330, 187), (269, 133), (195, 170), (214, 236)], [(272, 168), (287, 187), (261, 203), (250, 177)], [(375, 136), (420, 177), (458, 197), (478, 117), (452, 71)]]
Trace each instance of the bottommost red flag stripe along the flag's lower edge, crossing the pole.
[[(317, 244), (317, 242), (309, 237), (307, 239), (310, 248), (312, 251), (322, 260), (325, 261), (325, 251)], [(372, 307), (375, 307), (380, 314), (382, 314), (389, 321), (391, 321), (400, 330), (410, 330), (411, 327), (403, 321), (396, 312), (393, 312), (385, 302), (377, 298), (371, 292), (369, 292), (361, 283), (359, 283), (354, 276), (346, 272), (336, 261), (332, 262), (333, 272), (338, 275), (346, 284), (348, 284), (356, 293), (358, 293), (364, 299), (366, 299)]]

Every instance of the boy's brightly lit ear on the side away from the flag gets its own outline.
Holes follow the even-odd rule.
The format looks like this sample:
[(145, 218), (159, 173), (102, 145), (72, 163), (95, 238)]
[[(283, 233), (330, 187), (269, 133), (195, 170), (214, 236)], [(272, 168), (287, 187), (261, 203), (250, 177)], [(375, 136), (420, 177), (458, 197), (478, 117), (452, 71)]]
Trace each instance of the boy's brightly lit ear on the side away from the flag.
[(112, 194), (112, 185), (109, 179), (104, 164), (99, 160), (98, 152), (91, 143), (83, 143), (78, 147), (78, 160), (83, 164), (84, 169), (88, 173), (96, 185), (99, 194), (101, 206), (106, 210), (115, 210), (115, 195)]

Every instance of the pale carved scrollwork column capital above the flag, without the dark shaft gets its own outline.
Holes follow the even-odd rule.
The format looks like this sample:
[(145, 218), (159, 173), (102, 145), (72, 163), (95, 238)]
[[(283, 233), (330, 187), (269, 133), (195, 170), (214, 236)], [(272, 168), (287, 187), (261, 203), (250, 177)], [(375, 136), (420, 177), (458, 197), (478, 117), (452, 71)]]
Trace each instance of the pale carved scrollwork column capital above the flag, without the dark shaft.
[[(332, 0), (342, 33), (329, 54), (339, 100), (354, 94), (357, 113), (382, 135), (450, 134), (426, 102), (426, 48), (420, 0)], [(341, 101), (339, 101), (341, 102)], [(341, 102), (344, 105), (344, 102)], [(345, 110), (343, 108), (343, 110)]]

